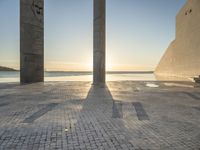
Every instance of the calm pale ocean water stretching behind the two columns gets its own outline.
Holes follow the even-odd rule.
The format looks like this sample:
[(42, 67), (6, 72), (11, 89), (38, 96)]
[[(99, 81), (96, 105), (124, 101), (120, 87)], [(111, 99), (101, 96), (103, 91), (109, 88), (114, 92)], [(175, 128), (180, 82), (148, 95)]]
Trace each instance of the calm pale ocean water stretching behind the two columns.
[[(19, 71), (0, 71), (0, 82), (19, 82)], [(92, 81), (92, 72), (45, 72), (45, 81)], [(153, 72), (107, 72), (106, 81), (155, 81)]]

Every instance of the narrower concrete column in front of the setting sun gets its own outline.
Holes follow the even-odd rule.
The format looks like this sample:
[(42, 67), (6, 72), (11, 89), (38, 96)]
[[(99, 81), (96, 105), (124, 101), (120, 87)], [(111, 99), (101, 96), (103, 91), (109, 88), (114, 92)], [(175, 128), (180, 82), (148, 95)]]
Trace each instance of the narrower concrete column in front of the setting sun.
[(93, 84), (105, 84), (106, 2), (94, 0)]

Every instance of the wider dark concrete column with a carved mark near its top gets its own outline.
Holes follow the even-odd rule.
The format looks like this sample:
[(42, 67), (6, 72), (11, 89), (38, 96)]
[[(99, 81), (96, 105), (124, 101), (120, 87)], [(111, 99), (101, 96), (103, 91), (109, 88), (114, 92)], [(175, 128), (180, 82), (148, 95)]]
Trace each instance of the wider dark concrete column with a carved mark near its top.
[(44, 0), (20, 0), (20, 81), (44, 81)]

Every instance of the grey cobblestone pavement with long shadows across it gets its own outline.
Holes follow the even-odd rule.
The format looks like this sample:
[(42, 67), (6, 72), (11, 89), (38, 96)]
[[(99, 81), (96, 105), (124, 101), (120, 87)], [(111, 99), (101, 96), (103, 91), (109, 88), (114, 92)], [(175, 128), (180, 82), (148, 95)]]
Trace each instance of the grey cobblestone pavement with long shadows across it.
[(139, 81), (0, 84), (0, 149), (200, 150), (200, 88)]

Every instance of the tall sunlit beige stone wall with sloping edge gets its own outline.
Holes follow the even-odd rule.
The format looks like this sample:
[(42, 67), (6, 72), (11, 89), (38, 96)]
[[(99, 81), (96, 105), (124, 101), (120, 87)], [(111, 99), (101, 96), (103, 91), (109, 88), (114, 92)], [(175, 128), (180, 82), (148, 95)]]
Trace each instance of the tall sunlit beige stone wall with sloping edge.
[(156, 75), (200, 75), (200, 0), (188, 0), (176, 16), (176, 38), (166, 50)]

